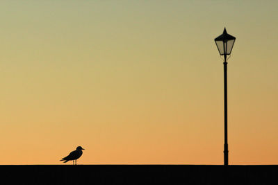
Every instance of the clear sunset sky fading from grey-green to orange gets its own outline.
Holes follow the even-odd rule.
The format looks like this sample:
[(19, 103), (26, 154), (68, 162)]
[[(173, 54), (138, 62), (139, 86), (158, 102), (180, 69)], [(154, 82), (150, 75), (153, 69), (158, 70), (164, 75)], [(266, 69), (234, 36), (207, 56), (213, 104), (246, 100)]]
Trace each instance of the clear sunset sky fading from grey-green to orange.
[[(0, 164), (278, 161), (278, 1), (1, 1)], [(71, 164), (71, 163), (70, 163)]]

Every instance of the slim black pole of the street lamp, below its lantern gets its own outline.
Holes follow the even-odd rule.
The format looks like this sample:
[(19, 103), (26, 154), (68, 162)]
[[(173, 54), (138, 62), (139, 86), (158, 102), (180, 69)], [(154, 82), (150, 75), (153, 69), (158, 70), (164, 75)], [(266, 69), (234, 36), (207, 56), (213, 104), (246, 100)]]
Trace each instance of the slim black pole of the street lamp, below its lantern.
[(227, 101), (227, 55), (224, 55), (224, 165), (229, 165), (228, 150), (228, 101)]

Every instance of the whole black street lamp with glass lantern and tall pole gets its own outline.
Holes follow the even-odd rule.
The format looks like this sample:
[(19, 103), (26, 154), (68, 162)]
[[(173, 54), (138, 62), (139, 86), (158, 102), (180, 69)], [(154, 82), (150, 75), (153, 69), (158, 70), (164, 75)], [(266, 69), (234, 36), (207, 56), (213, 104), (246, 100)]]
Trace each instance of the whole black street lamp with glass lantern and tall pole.
[(228, 112), (227, 112), (227, 55), (231, 54), (236, 37), (227, 33), (226, 28), (222, 35), (214, 39), (220, 55), (224, 55), (224, 165), (229, 164), (228, 157)]

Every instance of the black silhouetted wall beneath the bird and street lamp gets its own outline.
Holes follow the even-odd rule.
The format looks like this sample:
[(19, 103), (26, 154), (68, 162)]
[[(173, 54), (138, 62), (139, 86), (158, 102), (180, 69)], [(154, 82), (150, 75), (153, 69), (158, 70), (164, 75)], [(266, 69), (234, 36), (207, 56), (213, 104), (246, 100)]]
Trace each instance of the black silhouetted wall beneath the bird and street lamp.
[(0, 166), (0, 170), (1, 184), (238, 185), (277, 184), (278, 180), (276, 165), (23, 165)]

